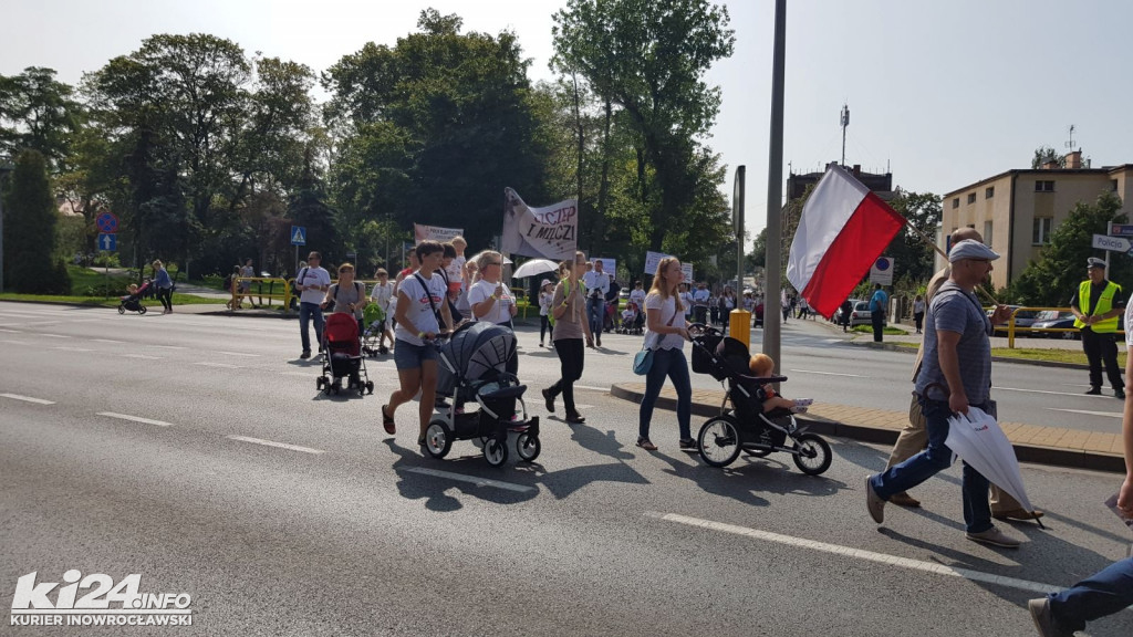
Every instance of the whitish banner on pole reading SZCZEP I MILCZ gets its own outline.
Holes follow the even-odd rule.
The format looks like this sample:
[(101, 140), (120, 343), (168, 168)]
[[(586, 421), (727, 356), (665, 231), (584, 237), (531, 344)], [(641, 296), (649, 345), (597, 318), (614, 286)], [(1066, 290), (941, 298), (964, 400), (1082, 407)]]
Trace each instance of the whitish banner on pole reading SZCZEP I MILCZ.
[(577, 199), (546, 207), (528, 207), (516, 190), (504, 188), (500, 252), (566, 261), (574, 258), (577, 246)]

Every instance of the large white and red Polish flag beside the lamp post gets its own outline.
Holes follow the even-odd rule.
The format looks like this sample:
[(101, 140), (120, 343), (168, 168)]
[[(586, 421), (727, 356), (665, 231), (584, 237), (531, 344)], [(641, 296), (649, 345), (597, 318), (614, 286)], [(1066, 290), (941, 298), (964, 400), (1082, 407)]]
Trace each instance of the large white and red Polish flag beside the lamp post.
[(829, 318), (904, 224), (861, 181), (832, 165), (802, 207), (786, 278)]

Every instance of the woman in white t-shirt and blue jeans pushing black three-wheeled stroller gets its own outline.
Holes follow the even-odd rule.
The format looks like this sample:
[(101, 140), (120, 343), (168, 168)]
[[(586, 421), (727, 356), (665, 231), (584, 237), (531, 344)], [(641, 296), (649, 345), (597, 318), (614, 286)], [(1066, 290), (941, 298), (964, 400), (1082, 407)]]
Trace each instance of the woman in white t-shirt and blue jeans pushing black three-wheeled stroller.
[(684, 279), (681, 262), (666, 256), (657, 264), (657, 274), (645, 299), (646, 347), (653, 349), (653, 365), (645, 376), (645, 396), (638, 414), (637, 445), (654, 451), (657, 445), (649, 440), (649, 423), (657, 397), (665, 384), (665, 376), (673, 381), (676, 390), (676, 423), (680, 427), (682, 450), (696, 450), (690, 419), (692, 417), (692, 383), (689, 379), (689, 363), (684, 358), (684, 341), (689, 340), (684, 307), (676, 287)]

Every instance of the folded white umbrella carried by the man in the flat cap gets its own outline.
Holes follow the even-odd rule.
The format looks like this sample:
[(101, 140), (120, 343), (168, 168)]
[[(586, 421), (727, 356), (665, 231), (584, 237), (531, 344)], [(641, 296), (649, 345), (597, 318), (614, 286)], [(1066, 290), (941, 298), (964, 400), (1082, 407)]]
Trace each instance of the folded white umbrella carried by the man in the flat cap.
[(968, 414), (954, 414), (948, 418), (945, 444), (1024, 509), (1034, 511), (1023, 487), (1015, 449), (990, 415), (977, 407), (969, 407)]

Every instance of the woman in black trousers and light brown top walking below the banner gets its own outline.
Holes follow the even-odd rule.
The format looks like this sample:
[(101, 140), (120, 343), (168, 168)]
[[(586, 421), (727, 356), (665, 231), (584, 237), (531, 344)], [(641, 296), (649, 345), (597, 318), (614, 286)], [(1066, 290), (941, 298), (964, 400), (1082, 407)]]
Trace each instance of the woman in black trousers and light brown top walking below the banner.
[(574, 406), (574, 381), (582, 377), (585, 356), (582, 337), (586, 337), (588, 347), (594, 347), (594, 336), (590, 333), (590, 322), (586, 313), (586, 287), (579, 280), (585, 270), (586, 255), (581, 252), (574, 253), (573, 262), (564, 261), (559, 266), (560, 281), (551, 299), (551, 313), (555, 317), (551, 341), (554, 343), (555, 354), (559, 355), (562, 377), (543, 390), (543, 400), (546, 401), (547, 411), (552, 414), (555, 413), (555, 397), (562, 394), (566, 422), (572, 425), (586, 422)]

